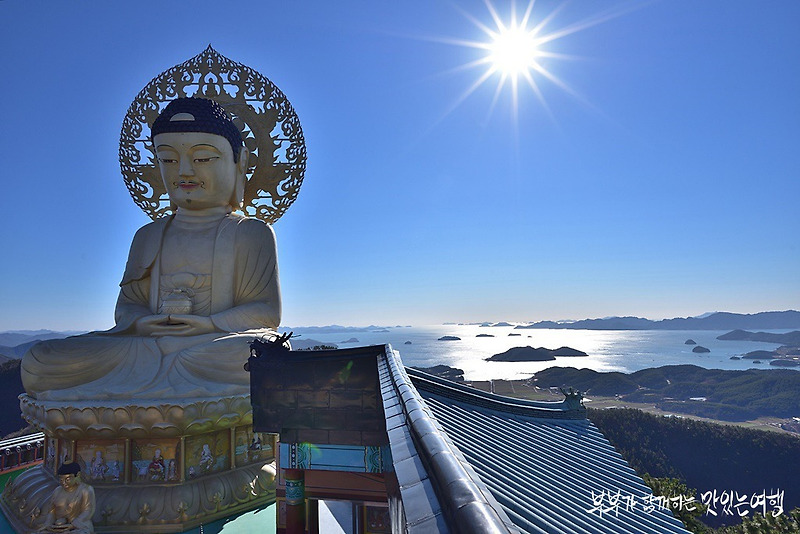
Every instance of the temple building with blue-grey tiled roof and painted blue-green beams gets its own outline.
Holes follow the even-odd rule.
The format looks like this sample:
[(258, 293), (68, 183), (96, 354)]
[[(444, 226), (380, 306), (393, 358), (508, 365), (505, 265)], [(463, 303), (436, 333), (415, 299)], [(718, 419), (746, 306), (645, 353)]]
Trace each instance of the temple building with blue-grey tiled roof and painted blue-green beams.
[(254, 343), (253, 425), (279, 432), (277, 531), (316, 532), (321, 500), (353, 532), (687, 532), (563, 402), (501, 397), (403, 366), (390, 346)]

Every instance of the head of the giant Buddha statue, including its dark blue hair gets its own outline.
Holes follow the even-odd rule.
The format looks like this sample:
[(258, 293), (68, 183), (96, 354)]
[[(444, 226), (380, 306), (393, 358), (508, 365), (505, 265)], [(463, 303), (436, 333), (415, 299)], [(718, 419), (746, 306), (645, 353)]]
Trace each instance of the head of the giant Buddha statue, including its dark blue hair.
[(173, 208), (241, 207), (248, 152), (222, 106), (178, 98), (164, 108), (151, 133)]

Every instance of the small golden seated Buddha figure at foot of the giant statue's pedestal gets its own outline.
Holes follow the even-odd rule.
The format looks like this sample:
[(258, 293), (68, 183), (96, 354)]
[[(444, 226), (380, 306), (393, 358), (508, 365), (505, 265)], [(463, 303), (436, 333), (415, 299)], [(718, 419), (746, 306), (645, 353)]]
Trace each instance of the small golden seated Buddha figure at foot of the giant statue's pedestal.
[(69, 532), (92, 534), (94, 515), (94, 488), (81, 480), (81, 468), (75, 463), (58, 468), (59, 486), (50, 497), (44, 525), (40, 532)]

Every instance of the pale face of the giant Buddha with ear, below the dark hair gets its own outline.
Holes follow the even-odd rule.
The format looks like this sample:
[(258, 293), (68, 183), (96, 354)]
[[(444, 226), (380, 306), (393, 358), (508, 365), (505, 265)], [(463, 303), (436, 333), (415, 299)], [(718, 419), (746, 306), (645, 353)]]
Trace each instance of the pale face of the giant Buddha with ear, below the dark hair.
[(177, 207), (201, 210), (241, 201), (234, 193), (244, 178), (244, 149), (236, 162), (227, 139), (204, 132), (162, 133), (153, 143), (161, 177)]

